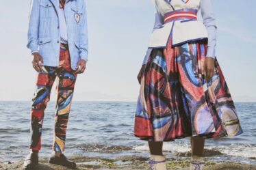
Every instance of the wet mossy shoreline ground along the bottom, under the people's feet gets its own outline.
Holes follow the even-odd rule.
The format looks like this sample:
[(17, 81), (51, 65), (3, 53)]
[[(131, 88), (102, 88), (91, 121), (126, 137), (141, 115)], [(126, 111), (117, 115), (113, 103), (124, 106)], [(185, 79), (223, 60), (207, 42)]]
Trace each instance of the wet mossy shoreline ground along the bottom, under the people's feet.
[[(145, 163), (148, 158), (138, 156), (121, 156), (116, 158), (100, 158), (100, 157), (79, 157), (71, 156), (71, 160), (77, 162), (77, 170), (87, 169), (122, 169), (122, 170), (146, 170), (149, 169)], [(18, 162), (9, 162), (9, 164), (0, 164), (1, 170), (21, 170), (23, 160)], [(167, 159), (167, 167), (171, 170), (189, 170), (190, 160)], [(47, 158), (40, 158), (38, 170), (68, 170), (62, 166), (50, 165)], [(256, 170), (256, 165), (242, 165), (233, 162), (206, 162), (205, 170)]]

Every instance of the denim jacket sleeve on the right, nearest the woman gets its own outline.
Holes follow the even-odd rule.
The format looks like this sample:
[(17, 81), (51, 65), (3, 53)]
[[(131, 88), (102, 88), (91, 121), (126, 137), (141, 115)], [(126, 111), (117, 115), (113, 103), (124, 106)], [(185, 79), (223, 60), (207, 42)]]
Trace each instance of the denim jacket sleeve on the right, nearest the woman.
[[(84, 0), (83, 0), (84, 1)], [(87, 14), (86, 14), (86, 3), (83, 5), (84, 16), (81, 21), (81, 29), (79, 34), (79, 53), (81, 59), (88, 61), (88, 27), (87, 27)]]

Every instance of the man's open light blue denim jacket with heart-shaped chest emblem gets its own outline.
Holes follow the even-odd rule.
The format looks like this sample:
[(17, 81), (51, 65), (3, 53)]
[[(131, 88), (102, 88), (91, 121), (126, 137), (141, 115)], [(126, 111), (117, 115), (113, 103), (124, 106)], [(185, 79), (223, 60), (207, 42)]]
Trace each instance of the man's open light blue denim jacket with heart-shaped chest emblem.
[[(39, 51), (44, 66), (57, 67), (60, 56), (59, 0), (31, 0), (27, 48)], [(88, 60), (88, 31), (84, 0), (66, 0), (64, 6), (71, 68)]]

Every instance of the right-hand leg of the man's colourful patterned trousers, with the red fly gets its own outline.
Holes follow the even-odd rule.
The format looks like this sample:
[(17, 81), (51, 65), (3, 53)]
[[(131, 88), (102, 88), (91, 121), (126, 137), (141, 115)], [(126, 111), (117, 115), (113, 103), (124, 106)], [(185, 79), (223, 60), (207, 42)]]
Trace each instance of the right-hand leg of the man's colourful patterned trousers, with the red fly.
[(57, 104), (55, 112), (55, 134), (53, 150), (64, 152), (66, 141), (66, 128), (71, 110), (71, 102), (74, 93), (77, 74), (71, 69), (68, 51), (62, 51), (60, 58), (64, 59), (64, 66), (58, 71), (59, 83), (57, 85)]

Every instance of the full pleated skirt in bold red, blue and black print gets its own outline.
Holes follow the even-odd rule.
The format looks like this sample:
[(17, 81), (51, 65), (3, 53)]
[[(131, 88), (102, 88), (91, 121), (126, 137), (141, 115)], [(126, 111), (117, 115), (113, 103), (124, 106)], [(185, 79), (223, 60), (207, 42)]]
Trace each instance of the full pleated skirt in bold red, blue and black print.
[(205, 80), (205, 42), (153, 49), (142, 72), (134, 135), (148, 141), (242, 133), (217, 59)]

